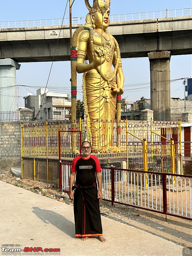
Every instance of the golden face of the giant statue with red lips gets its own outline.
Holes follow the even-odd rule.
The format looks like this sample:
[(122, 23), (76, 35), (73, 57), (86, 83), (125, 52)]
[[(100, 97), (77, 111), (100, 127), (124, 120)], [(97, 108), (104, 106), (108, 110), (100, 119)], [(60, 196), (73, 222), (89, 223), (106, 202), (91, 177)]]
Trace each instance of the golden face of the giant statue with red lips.
[(102, 19), (103, 19), (103, 29), (107, 29), (109, 26), (110, 18), (109, 18), (110, 11), (107, 10), (104, 12), (102, 16), (102, 12), (100, 9), (95, 12), (95, 16), (93, 16), (93, 20), (95, 21), (96, 28), (102, 28)]

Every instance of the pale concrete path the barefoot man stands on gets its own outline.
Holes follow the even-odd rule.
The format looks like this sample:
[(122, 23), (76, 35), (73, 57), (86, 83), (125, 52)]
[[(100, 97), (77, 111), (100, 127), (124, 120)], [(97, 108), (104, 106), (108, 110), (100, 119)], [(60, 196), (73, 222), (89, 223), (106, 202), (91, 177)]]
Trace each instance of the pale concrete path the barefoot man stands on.
[[(75, 238), (73, 206), (0, 181), (1, 247), (60, 248), (56, 252), (2, 252), (0, 255), (182, 256), (183, 247), (101, 216), (106, 243)], [(13, 246), (5, 246), (6, 244)]]

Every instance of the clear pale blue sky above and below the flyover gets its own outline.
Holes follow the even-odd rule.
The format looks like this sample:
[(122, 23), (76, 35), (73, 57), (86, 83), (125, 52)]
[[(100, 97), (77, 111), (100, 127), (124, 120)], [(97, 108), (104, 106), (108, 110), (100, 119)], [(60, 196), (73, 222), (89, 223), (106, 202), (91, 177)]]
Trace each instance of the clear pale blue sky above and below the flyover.
[[(72, 0), (73, 1), (73, 0)], [(9, 6), (6, 1), (1, 1), (0, 21), (11, 20), (36, 20), (36, 19), (56, 19), (63, 18), (67, 0), (9, 0)], [(90, 0), (92, 4), (92, 0)], [(158, 11), (165, 9), (182, 9), (192, 7), (191, 0), (161, 0), (161, 1), (127, 1), (127, 0), (111, 0), (111, 14), (132, 13)], [(6, 11), (5, 11), (6, 10)], [(75, 0), (72, 6), (72, 17), (84, 17), (87, 14), (87, 8), (84, 0)], [(68, 8), (65, 18), (69, 17)], [(47, 83), (51, 62), (39, 63), (21, 63), (20, 70), (17, 71), (17, 84), (25, 84), (27, 86), (44, 87)], [(192, 76), (192, 56), (172, 56), (170, 62), (171, 79)], [(65, 71), (64, 71), (65, 70)], [(150, 98), (150, 87), (135, 86), (130, 84), (142, 84), (150, 82), (150, 69), (148, 58), (123, 59), (123, 70), (125, 75), (125, 92), (123, 97), (129, 101), (140, 100), (145, 96)], [(54, 62), (48, 87), (63, 87), (60, 92), (70, 92), (70, 62)], [(78, 75), (78, 95), (77, 98), (82, 99), (81, 93), (82, 75)], [(138, 89), (137, 89), (138, 88)], [(129, 89), (129, 90), (128, 90)], [(131, 90), (130, 90), (131, 89)], [(20, 96), (24, 93), (36, 93), (34, 88), (22, 88)], [(58, 91), (59, 92), (59, 91)], [(184, 97), (182, 80), (171, 84), (171, 97)], [(21, 101), (22, 105), (23, 101)], [(24, 104), (24, 103), (23, 103)]]

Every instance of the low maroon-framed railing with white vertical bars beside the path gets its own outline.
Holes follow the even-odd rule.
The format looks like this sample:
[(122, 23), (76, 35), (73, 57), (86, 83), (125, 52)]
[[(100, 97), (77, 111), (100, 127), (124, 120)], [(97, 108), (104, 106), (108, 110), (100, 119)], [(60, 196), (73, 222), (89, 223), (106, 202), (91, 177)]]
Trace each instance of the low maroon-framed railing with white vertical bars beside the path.
[[(70, 171), (71, 164), (60, 163), (65, 192), (69, 191)], [(103, 167), (103, 200), (192, 220), (191, 181), (189, 175)]]

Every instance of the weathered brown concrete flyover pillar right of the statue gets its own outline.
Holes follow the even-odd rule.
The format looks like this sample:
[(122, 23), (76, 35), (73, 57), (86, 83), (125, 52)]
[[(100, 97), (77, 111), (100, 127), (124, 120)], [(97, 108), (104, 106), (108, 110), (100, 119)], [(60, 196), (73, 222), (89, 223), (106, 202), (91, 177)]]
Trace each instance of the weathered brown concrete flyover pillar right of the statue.
[(170, 52), (149, 52), (151, 110), (155, 121), (171, 121)]

